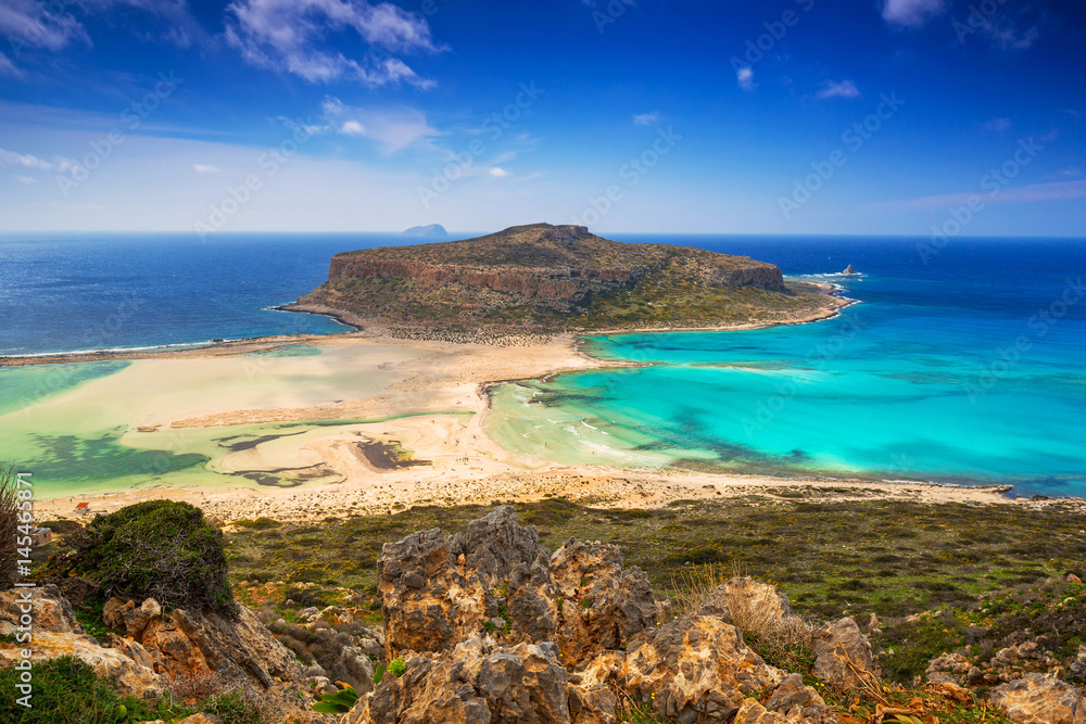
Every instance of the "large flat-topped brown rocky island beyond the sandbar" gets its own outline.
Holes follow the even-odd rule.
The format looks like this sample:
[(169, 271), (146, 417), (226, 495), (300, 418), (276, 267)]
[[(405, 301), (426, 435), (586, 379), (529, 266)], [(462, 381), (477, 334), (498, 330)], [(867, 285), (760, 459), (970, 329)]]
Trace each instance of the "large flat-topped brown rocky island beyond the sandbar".
[(717, 328), (795, 322), (846, 304), (772, 264), (628, 244), (532, 224), (476, 239), (336, 254), (328, 281), (282, 308), (396, 336)]

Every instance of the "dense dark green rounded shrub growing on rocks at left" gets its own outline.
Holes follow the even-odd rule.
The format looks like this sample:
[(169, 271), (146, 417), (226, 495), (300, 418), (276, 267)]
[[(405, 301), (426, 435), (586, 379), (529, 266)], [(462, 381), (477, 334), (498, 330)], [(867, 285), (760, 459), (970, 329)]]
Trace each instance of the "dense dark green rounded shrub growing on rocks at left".
[(54, 568), (96, 580), (105, 596), (237, 614), (223, 534), (188, 503), (148, 500), (98, 516), (64, 543)]

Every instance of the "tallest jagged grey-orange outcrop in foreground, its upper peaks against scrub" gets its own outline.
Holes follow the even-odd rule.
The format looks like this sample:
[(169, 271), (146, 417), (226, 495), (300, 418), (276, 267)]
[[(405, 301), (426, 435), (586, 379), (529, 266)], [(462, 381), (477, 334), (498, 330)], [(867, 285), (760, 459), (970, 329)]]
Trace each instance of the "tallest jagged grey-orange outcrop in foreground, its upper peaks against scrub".
[(647, 576), (623, 570), (616, 546), (571, 541), (551, 556), (510, 507), (463, 535), (432, 530), (387, 544), (377, 567), (390, 660), (494, 632), (509, 644), (555, 642), (576, 663), (656, 621)]

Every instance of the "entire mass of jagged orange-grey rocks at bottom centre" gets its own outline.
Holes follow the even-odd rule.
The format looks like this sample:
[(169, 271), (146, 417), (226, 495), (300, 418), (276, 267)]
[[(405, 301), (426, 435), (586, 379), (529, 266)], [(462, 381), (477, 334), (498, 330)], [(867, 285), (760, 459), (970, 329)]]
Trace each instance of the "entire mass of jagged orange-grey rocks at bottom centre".
[[(386, 656), (406, 672), (386, 675), (349, 724), (613, 724), (631, 700), (684, 724), (836, 722), (800, 676), (767, 664), (733, 625), (753, 610), (774, 625), (794, 619), (767, 584), (729, 582), (696, 615), (674, 618), (617, 547), (569, 541), (551, 555), (510, 507), (463, 535), (433, 530), (388, 544), (378, 572)], [(850, 633), (831, 649), (862, 649)], [(870, 664), (869, 646), (857, 656)]]

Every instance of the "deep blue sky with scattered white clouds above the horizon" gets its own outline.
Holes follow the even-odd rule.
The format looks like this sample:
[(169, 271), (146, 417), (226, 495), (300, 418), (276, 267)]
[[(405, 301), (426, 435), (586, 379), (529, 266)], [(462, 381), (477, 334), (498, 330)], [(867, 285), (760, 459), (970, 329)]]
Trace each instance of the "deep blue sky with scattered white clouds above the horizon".
[(1073, 0), (0, 0), (0, 229), (1086, 236)]

